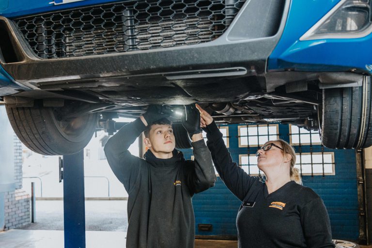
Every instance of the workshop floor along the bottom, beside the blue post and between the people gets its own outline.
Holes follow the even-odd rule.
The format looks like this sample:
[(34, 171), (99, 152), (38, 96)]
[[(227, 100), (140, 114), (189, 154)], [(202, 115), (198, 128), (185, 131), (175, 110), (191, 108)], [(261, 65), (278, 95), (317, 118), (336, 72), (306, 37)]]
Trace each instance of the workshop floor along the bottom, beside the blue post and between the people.
[[(124, 248), (124, 232), (87, 231), (86, 248)], [(1, 248), (64, 248), (63, 231), (18, 230), (0, 233)], [(236, 241), (196, 240), (195, 248), (236, 248)]]

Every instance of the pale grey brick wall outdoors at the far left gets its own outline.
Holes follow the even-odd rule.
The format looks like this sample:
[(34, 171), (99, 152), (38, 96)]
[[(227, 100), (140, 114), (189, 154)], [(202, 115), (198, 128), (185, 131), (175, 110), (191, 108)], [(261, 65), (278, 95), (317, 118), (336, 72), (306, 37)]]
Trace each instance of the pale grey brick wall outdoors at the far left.
[(5, 193), (5, 231), (31, 223), (31, 197), (22, 189), (22, 145), (14, 138), (14, 169), (16, 190)]

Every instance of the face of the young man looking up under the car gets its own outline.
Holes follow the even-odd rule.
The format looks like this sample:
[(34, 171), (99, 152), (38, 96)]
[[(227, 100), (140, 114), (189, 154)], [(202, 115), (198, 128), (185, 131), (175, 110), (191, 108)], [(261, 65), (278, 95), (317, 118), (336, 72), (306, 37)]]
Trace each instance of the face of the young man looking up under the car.
[(145, 144), (156, 157), (160, 157), (157, 154), (172, 153), (176, 146), (172, 126), (159, 124), (152, 125), (149, 137), (145, 139)]

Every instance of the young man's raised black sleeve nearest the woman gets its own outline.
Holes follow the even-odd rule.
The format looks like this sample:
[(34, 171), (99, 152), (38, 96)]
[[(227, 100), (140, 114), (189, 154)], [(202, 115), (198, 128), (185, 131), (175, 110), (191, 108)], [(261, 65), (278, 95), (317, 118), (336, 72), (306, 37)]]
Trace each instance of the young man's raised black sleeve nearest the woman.
[(211, 153), (209, 152), (204, 140), (192, 142), (195, 174), (190, 183), (194, 193), (202, 192), (215, 186), (217, 180), (215, 169), (213, 168)]

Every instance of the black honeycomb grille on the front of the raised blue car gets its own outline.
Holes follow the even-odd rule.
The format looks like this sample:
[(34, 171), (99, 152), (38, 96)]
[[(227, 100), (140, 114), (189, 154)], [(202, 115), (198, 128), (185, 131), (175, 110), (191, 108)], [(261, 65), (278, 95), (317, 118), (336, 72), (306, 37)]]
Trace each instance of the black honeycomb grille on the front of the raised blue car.
[(194, 45), (219, 37), (246, 0), (140, 0), (14, 20), (42, 59)]

